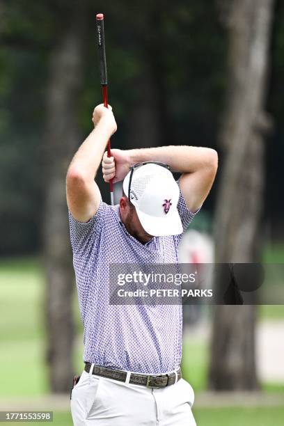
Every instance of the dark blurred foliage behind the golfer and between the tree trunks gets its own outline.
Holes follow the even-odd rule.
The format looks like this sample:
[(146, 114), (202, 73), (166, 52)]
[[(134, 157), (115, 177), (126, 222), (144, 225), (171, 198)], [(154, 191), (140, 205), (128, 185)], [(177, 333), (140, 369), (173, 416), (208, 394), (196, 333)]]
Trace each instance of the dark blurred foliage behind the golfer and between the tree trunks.
[[(279, 95), (284, 14), (283, 5), (278, 3), (269, 92), (269, 110), (277, 129), (272, 159), (281, 158), (284, 152), (279, 148), (284, 133), (283, 97)], [(138, 7), (129, 0), (119, 4), (84, 0), (81, 5), (88, 22), (84, 90), (79, 105), (82, 133), (90, 131), (90, 113), (101, 102), (94, 21), (95, 13), (103, 11), (109, 97), (118, 120), (113, 146), (132, 146), (129, 113), (141, 103), (139, 79), (148, 75), (152, 86), (146, 100), (155, 102), (161, 121), (157, 145), (189, 143), (216, 148), (226, 84), (226, 30), (219, 21), (216, 3), (177, 0), (164, 8), (160, 1), (143, 1)], [(0, 255), (34, 253), (41, 246), (48, 184), (42, 168), (49, 58), (73, 8), (74, 0), (1, 3)], [(281, 161), (276, 172), (281, 173)], [(269, 179), (267, 186), (272, 189), (273, 177)], [(213, 198), (207, 202), (210, 210)], [(270, 205), (281, 205), (278, 198), (275, 191), (267, 190)]]

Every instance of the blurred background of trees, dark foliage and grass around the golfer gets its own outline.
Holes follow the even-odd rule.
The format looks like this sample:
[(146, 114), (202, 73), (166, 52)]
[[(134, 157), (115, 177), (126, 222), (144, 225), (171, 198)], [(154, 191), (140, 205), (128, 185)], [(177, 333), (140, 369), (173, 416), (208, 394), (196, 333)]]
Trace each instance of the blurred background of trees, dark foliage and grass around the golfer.
[[(83, 368), (65, 174), (102, 102), (96, 13), (112, 147), (219, 153), (181, 261), (284, 260), (283, 1), (0, 0), (0, 409), (63, 426)], [(283, 306), (184, 307), (198, 425), (283, 425), (283, 357)]]

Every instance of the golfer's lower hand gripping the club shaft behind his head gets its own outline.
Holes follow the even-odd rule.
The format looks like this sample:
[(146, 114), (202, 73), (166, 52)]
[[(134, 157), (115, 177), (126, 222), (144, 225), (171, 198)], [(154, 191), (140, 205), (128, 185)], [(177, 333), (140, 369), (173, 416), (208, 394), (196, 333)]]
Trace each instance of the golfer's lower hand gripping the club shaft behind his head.
[(123, 180), (132, 166), (129, 152), (127, 150), (111, 150), (112, 157), (107, 157), (107, 151), (102, 157), (102, 174), (104, 182), (109, 182), (112, 178), (113, 183)]

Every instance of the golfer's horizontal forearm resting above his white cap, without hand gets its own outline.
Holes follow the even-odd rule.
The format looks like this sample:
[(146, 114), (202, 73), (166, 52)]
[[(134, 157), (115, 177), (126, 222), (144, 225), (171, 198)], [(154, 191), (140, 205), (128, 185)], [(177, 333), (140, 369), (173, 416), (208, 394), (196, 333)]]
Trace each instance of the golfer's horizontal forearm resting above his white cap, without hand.
[(161, 161), (172, 171), (194, 173), (200, 168), (210, 166), (215, 161), (216, 152), (210, 148), (195, 146), (162, 146), (129, 150), (131, 166), (142, 161)]

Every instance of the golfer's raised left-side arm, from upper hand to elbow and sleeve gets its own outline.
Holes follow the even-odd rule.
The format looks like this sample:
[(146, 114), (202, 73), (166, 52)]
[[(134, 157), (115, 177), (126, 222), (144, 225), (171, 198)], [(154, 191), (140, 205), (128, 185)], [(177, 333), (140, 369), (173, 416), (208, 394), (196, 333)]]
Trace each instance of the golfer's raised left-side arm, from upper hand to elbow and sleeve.
[(66, 176), (68, 208), (79, 222), (88, 222), (100, 205), (100, 189), (95, 175), (111, 135), (116, 132), (116, 120), (111, 107), (102, 104), (93, 112), (95, 128), (74, 155)]

